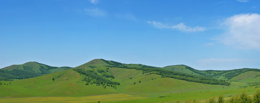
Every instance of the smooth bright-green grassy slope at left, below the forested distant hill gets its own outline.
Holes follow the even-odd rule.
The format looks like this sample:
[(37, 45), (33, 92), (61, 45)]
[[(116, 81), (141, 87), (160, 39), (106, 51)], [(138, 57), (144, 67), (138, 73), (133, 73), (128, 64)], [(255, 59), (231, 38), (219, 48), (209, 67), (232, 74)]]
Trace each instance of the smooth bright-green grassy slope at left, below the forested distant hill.
[[(52, 78), (55, 80), (53, 81)], [(81, 83), (80, 78), (79, 73), (64, 70), (36, 78), (10, 81), (11, 85), (0, 86), (0, 97), (88, 96), (117, 93), (114, 88), (86, 86)]]

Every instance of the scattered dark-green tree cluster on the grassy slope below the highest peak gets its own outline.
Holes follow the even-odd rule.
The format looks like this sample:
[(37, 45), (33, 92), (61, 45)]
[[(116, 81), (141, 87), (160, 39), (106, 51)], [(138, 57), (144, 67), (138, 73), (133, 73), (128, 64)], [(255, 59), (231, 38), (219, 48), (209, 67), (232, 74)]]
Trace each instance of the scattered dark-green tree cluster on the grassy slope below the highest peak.
[[(94, 80), (94, 83), (98, 84), (98, 85), (102, 85), (102, 84), (120, 85), (119, 82), (112, 82), (112, 81), (107, 80), (107, 79), (103, 78), (102, 76), (100, 76), (96, 73), (90, 72), (88, 70), (86, 70), (86, 71), (83, 70), (83, 69), (73, 69), (73, 70), (82, 74), (82, 75), (88, 76), (89, 78), (92, 78)], [(107, 76), (107, 75), (103, 74), (103, 76)], [(109, 76), (109, 77), (111, 77), (111, 76)], [(114, 77), (114, 76), (112, 76), (112, 77)], [(87, 82), (90, 82), (90, 81), (87, 80)]]

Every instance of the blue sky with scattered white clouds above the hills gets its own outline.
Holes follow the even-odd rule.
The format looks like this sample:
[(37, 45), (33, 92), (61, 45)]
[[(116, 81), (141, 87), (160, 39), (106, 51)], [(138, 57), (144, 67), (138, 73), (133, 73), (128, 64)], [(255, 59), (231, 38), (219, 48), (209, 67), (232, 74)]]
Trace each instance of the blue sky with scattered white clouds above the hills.
[(2, 0), (0, 68), (93, 59), (260, 69), (258, 0)]

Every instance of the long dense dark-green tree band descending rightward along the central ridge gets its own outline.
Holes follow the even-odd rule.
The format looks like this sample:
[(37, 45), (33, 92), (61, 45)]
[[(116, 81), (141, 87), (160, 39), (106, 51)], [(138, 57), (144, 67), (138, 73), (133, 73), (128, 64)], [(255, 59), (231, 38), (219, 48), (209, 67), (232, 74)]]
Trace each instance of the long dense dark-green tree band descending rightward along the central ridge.
[(156, 69), (156, 68), (138, 68), (136, 70), (142, 70), (144, 73), (150, 72), (150, 74), (161, 75), (162, 78), (169, 77), (169, 78), (174, 78), (174, 79), (179, 79), (179, 80), (185, 80), (188, 82), (198, 82), (198, 83), (203, 83), (203, 84), (218, 84), (218, 85), (225, 85), (225, 86), (230, 85), (229, 82), (217, 80), (214, 78), (195, 76), (195, 75), (184, 74), (184, 73), (180, 73), (180, 72), (173, 72), (173, 71), (169, 71), (169, 70), (162, 70), (162, 69)]

